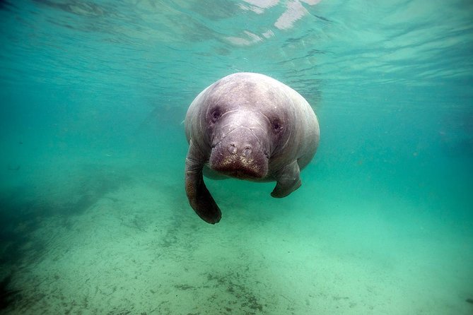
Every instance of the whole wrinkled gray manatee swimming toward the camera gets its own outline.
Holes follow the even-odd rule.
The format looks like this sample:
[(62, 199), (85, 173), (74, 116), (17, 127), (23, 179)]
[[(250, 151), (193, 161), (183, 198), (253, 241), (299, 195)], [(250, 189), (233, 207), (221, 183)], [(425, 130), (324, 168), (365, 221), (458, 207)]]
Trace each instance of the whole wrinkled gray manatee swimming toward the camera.
[(214, 224), (221, 211), (206, 177), (276, 182), (282, 198), (300, 186), (300, 170), (319, 143), (313, 109), (295, 90), (259, 73), (234, 73), (194, 99), (185, 118), (189, 152), (185, 189), (202, 220)]

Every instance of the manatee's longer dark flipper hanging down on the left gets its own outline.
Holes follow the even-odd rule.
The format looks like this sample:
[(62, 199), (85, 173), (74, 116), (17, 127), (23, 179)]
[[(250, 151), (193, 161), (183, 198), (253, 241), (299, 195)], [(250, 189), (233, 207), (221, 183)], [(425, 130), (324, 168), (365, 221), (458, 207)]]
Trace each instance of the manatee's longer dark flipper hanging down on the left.
[(220, 221), (222, 213), (209, 189), (205, 186), (202, 170), (205, 159), (199, 150), (189, 141), (189, 152), (185, 160), (185, 191), (190, 206), (205, 222), (215, 224)]

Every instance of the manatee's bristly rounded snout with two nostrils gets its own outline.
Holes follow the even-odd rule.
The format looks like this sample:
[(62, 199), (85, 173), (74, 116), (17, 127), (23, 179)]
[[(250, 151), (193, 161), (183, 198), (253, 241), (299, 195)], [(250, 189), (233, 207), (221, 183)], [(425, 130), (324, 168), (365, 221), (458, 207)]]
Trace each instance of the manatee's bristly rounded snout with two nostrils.
[(257, 136), (246, 128), (228, 133), (212, 148), (212, 170), (239, 179), (262, 179), (268, 172), (269, 156)]

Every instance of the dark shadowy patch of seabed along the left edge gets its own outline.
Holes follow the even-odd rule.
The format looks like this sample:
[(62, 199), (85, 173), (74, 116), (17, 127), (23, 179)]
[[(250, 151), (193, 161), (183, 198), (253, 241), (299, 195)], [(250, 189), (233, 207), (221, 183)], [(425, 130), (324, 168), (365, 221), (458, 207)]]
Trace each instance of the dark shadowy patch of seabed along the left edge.
[[(33, 235), (47, 218), (57, 216), (64, 227), (70, 228), (71, 217), (130, 181), (122, 172), (103, 167), (87, 166), (82, 172), (69, 179), (68, 183), (73, 183), (69, 186), (53, 183), (56, 194), (51, 188), (35, 191), (33, 187), (0, 191), (0, 309), (21, 299), (21, 288), (13, 285), (16, 271), (45, 254), (46, 244)], [(64, 191), (59, 190), (62, 188)]]

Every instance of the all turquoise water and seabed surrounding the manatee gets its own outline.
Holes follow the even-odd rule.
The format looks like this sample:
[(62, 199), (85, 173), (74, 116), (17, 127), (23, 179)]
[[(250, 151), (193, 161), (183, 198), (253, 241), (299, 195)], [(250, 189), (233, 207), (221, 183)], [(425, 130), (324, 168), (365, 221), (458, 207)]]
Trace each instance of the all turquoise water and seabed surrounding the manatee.
[[(378, 3), (376, 3), (378, 2)], [(6, 314), (472, 314), (473, 2), (0, 1)], [(303, 186), (184, 191), (238, 71), (313, 106)]]

